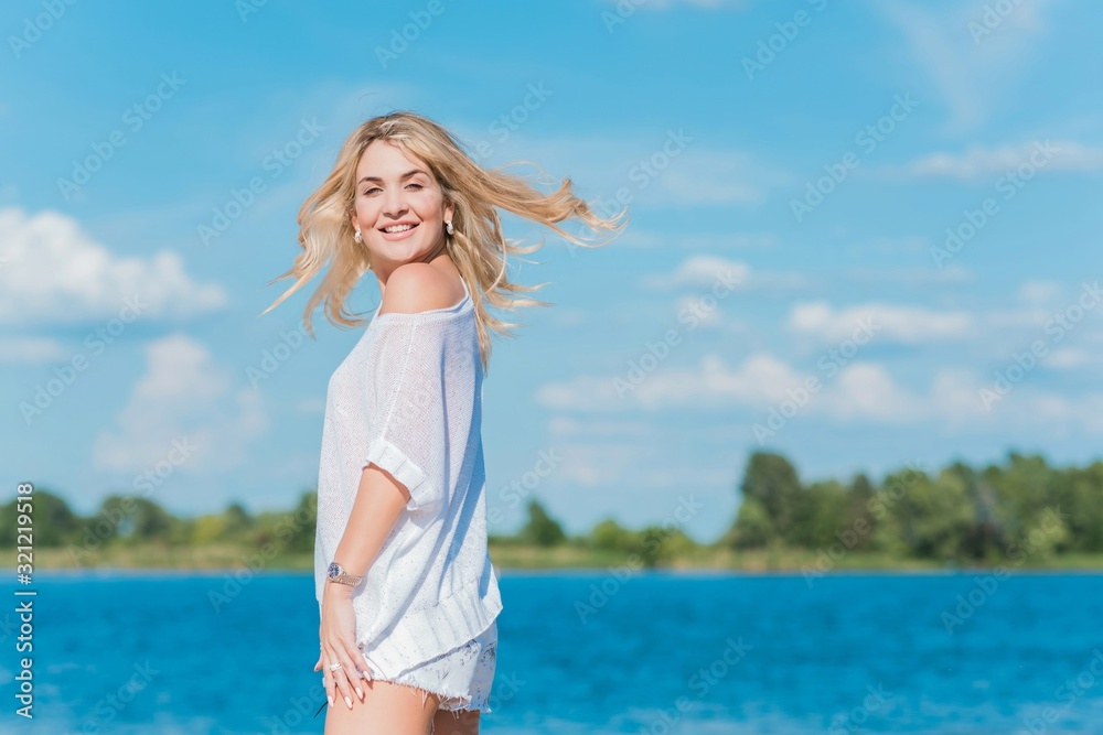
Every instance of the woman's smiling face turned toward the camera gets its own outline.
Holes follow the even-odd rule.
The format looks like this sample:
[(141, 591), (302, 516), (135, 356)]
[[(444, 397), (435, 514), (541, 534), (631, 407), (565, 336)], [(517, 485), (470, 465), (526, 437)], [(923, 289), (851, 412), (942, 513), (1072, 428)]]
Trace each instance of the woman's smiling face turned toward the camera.
[[(352, 224), (376, 272), (383, 262), (401, 264), (438, 249), (453, 209), (445, 206), (443, 192), (424, 161), (386, 140), (364, 150), (356, 165)], [(394, 226), (399, 227), (387, 231)]]

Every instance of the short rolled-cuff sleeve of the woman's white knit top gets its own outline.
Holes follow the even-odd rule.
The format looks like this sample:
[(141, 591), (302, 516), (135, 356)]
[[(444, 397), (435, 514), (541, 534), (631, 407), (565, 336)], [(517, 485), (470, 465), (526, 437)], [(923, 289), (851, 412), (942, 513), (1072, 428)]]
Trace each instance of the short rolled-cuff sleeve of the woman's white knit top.
[(377, 325), (368, 376), (364, 466), (389, 473), (410, 494), (407, 509), (421, 510), (443, 500), (447, 338), (417, 314), (389, 316)]

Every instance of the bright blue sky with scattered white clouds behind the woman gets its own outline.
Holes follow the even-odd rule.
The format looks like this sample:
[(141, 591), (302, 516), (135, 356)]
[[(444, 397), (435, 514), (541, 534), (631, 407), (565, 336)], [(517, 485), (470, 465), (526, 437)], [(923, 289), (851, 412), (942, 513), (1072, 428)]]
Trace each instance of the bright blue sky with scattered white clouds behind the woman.
[(302, 201), (393, 109), (629, 202), (596, 250), (504, 217), (557, 305), (495, 342), (494, 532), (537, 497), (571, 532), (692, 506), (711, 540), (760, 447), (807, 479), (1099, 458), (1103, 7), (366, 8), (0, 9), (4, 487), (188, 515), (313, 487), (361, 333), (296, 334), (317, 281), (257, 315)]

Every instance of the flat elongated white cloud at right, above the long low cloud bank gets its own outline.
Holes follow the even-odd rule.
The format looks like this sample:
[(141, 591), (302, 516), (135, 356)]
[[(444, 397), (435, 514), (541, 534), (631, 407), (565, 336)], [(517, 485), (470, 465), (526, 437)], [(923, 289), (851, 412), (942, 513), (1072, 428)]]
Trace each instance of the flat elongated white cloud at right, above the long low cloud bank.
[(965, 312), (935, 312), (921, 306), (869, 303), (836, 310), (825, 301), (815, 301), (794, 304), (785, 326), (820, 343), (871, 334), (874, 342), (923, 344), (968, 337), (974, 320)]

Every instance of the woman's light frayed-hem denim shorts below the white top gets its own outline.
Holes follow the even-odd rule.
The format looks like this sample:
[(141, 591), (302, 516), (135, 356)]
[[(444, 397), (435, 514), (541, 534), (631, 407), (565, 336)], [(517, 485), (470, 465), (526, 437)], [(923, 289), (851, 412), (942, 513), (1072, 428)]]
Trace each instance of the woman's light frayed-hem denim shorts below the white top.
[(497, 620), (462, 646), (397, 674), (384, 675), (371, 658), (364, 656), (364, 660), (372, 679), (416, 687), (409, 690), (411, 694), (422, 690), (422, 705), (428, 699), (427, 692), (431, 692), (440, 698), (441, 710), (456, 712), (457, 716), (461, 710), (491, 712), (490, 691), (497, 663)]

